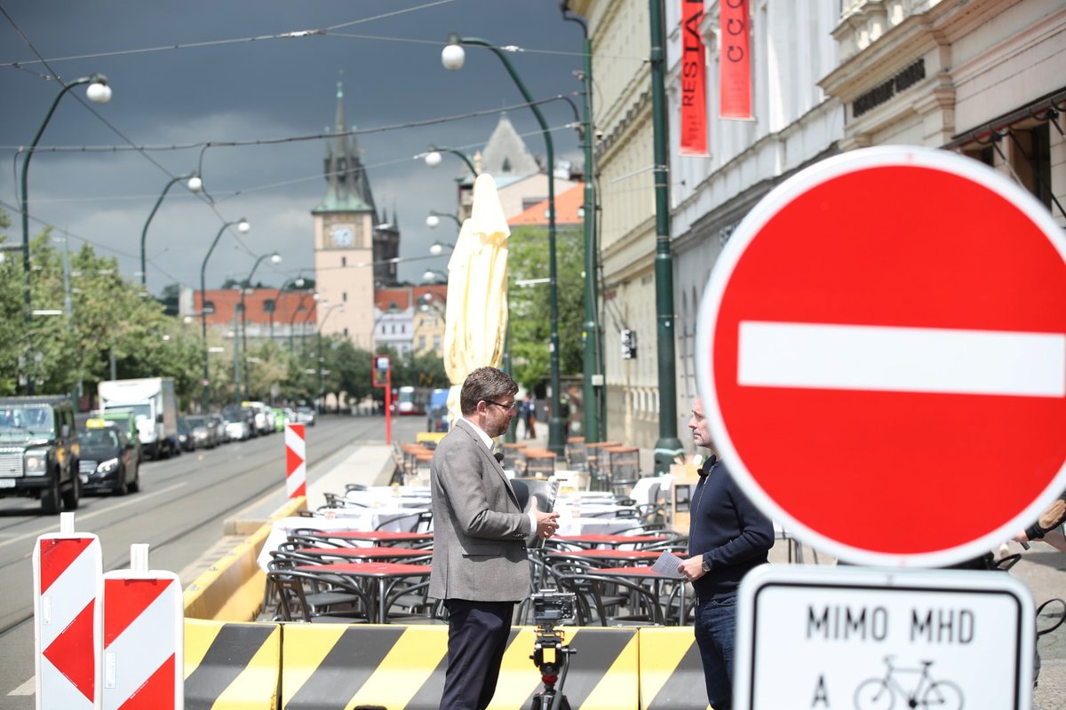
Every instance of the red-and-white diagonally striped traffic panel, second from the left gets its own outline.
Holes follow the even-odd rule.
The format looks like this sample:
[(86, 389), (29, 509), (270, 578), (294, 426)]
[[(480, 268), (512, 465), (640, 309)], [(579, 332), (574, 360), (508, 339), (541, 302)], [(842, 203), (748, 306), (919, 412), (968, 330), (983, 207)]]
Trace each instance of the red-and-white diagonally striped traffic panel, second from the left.
[(103, 710), (182, 710), (184, 618), (173, 572), (148, 569), (148, 546), (130, 545), (130, 568), (103, 575), (100, 594)]

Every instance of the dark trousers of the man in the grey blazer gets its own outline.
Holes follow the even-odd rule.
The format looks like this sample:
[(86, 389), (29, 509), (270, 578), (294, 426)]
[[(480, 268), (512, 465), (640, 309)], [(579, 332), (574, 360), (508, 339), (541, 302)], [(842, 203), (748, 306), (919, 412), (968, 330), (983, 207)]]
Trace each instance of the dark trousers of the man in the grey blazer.
[(447, 599), (448, 671), (440, 710), (485, 710), (496, 693), (514, 601)]

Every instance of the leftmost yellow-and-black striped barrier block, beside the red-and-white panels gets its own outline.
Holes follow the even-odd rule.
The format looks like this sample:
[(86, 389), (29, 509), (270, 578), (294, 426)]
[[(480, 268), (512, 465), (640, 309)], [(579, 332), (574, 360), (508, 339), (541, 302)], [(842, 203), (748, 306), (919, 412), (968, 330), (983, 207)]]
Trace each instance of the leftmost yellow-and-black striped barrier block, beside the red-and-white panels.
[(275, 710), (281, 627), (185, 618), (185, 710)]

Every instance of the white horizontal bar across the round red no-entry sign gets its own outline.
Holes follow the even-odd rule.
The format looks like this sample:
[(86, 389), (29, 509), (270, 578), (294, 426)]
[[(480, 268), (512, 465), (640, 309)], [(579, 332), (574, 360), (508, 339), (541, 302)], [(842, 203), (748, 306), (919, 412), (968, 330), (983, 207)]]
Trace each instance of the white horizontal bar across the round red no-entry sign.
[(1066, 335), (994, 330), (740, 324), (738, 384), (1066, 396)]

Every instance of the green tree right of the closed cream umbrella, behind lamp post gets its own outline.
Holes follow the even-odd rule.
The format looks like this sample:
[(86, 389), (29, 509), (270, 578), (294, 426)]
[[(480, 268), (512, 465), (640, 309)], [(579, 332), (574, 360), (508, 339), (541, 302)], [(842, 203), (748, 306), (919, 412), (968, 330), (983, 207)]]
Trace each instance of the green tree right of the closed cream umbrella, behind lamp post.
[[(583, 240), (580, 225), (567, 225), (555, 230), (561, 375), (579, 375), (582, 368)], [(515, 282), (548, 276), (546, 227), (517, 227), (512, 231), (507, 267), (511, 273), (511, 361), (515, 380), (522, 386), (532, 389), (546, 381), (550, 374), (547, 347), (551, 337), (550, 290), (546, 283), (518, 286)]]

